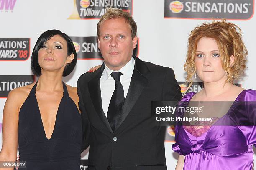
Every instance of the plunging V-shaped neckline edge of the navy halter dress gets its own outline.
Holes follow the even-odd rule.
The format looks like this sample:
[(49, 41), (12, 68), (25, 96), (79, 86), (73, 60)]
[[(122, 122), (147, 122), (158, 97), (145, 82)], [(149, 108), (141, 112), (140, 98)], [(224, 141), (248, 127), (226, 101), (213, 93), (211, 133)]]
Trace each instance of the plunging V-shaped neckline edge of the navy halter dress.
[[(59, 102), (59, 106), (58, 106), (58, 110), (57, 110), (57, 113), (56, 113), (56, 117), (55, 117), (55, 122), (54, 122), (54, 128), (52, 130), (52, 133), (51, 133), (51, 137), (48, 139), (47, 138), (47, 135), (46, 135), (46, 132), (45, 132), (45, 129), (44, 129), (44, 123), (43, 123), (43, 119), (42, 119), (42, 116), (41, 116), (41, 111), (40, 111), (40, 107), (39, 107), (39, 104), (38, 104), (38, 100), (36, 98), (36, 86), (37, 86), (37, 82), (36, 84), (34, 85), (34, 87), (32, 88), (32, 90), (34, 91), (33, 94), (35, 95), (35, 99), (36, 99), (36, 106), (37, 106), (37, 109), (38, 109), (38, 112), (39, 112), (39, 117), (40, 117), (40, 122), (41, 122), (41, 128), (43, 130), (43, 133), (44, 133), (44, 137), (46, 138), (46, 140), (51, 140), (54, 136), (54, 131), (56, 131), (56, 122), (57, 122), (57, 119), (58, 119), (58, 115), (59, 115), (59, 112), (60, 112), (60, 105), (63, 101), (63, 98), (64, 98), (64, 95), (67, 93), (67, 87), (66, 85), (64, 84), (64, 82), (62, 82), (62, 86), (63, 86), (63, 95), (61, 97), (61, 100)], [(32, 91), (31, 90), (31, 91)]]

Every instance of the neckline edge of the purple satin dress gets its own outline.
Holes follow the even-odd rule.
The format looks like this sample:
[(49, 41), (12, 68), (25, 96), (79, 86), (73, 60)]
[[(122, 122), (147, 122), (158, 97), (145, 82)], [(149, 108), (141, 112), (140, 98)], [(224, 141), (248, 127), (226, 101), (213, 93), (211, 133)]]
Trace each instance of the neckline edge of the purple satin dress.
[[(243, 92), (245, 92), (245, 91), (246, 91), (246, 89), (243, 90), (243, 91), (241, 91), (241, 92), (238, 94), (238, 96), (236, 97), (236, 99), (234, 100), (234, 102), (232, 103), (232, 105), (230, 106), (230, 108), (228, 109), (228, 111), (226, 112), (226, 114), (224, 114), (222, 117), (220, 117), (219, 120), (217, 120), (216, 122), (214, 122), (214, 123), (211, 125), (211, 127), (210, 127), (205, 133), (202, 134), (202, 135), (206, 134), (206, 135), (205, 135), (205, 139), (206, 139), (207, 136), (208, 136), (208, 132), (212, 129), (212, 126), (215, 126), (220, 120), (223, 119), (223, 117), (225, 117), (226, 115), (228, 115), (228, 113), (230, 112), (231, 108), (234, 107), (235, 102), (238, 101), (238, 98), (239, 98), (239, 97), (241, 96), (241, 94), (242, 94)], [(191, 99), (194, 97), (195, 94), (197, 94), (197, 93), (195, 93), (195, 92), (191, 92), (191, 93), (192, 93), (192, 95), (189, 96), (185, 107), (188, 106), (188, 104), (189, 104), (189, 102), (191, 101)], [(183, 125), (182, 125), (182, 129), (185, 131)], [(186, 131), (187, 131), (187, 130), (186, 130)], [(186, 133), (186, 132), (185, 132), (185, 133)], [(189, 133), (189, 132), (188, 132), (188, 133)], [(192, 135), (191, 133), (189, 133), (189, 134)], [(189, 138), (189, 136), (188, 136), (187, 133), (186, 133), (186, 135), (187, 135), (187, 137)], [(200, 135), (200, 136), (202, 136), (202, 135)], [(194, 136), (194, 135), (192, 135), (192, 136)], [(199, 138), (200, 136), (198, 136), (198, 137), (195, 137), (195, 136), (194, 136), (194, 137), (195, 137), (195, 138)], [(204, 141), (205, 141), (205, 139), (204, 139)], [(190, 138), (189, 138), (189, 140), (190, 140), (190, 142), (191, 142), (191, 139), (190, 139)], [(203, 142), (203, 143), (204, 143), (204, 142)]]

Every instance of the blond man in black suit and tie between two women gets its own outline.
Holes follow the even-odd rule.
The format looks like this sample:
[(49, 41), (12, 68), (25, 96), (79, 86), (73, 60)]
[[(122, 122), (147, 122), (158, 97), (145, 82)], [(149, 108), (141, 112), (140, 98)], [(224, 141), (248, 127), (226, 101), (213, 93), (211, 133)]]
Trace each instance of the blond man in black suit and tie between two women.
[(97, 25), (102, 66), (77, 82), (88, 170), (166, 170), (164, 134), (151, 101), (180, 100), (171, 68), (133, 56), (137, 26), (126, 12), (107, 10)]

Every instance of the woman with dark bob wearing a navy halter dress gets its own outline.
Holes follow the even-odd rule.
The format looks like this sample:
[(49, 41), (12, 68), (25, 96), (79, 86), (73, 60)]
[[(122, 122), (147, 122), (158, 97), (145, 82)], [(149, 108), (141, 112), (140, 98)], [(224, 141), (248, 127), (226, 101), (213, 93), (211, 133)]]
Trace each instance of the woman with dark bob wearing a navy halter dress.
[(8, 95), (0, 161), (15, 162), (19, 145), (20, 161), (26, 161), (26, 168), (19, 169), (80, 169), (82, 125), (77, 88), (62, 82), (76, 62), (73, 42), (65, 33), (48, 30), (38, 38), (31, 69), (39, 78)]

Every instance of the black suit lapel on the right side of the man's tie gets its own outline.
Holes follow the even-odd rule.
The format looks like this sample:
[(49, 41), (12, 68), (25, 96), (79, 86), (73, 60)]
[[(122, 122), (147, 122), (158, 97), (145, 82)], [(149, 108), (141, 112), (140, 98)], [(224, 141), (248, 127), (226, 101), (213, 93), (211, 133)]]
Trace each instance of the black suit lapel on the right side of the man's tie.
[(135, 66), (133, 70), (133, 75), (131, 77), (129, 90), (123, 105), (123, 110), (118, 121), (117, 130), (118, 127), (123, 123), (125, 118), (128, 116), (128, 114), (131, 112), (131, 109), (135, 105), (138, 97), (141, 95), (143, 88), (148, 82), (146, 77), (144, 77), (144, 75), (149, 72), (148, 67), (140, 59), (135, 56), (133, 57), (135, 59)]

